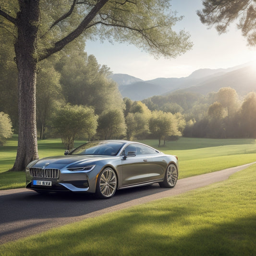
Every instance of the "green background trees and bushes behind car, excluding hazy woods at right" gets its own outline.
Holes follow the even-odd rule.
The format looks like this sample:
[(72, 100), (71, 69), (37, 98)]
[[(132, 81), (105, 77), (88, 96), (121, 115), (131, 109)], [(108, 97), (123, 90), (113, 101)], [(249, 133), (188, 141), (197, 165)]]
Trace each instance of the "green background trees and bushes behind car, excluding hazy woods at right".
[[(154, 137), (160, 144), (162, 139), (165, 142), (171, 136), (182, 135), (183, 115), (151, 111), (141, 101), (122, 99), (118, 85), (109, 78), (110, 69), (101, 66), (93, 55), (88, 56), (84, 47), (81, 41), (79, 48), (69, 49), (38, 66), (39, 139), (61, 137), (65, 148), (71, 149), (77, 138), (130, 140)], [(0, 101), (0, 111), (10, 116), (17, 133), (17, 72), (14, 61), (3, 61), (1, 67), (5, 75), (1, 76), (0, 89), (5, 97)]]

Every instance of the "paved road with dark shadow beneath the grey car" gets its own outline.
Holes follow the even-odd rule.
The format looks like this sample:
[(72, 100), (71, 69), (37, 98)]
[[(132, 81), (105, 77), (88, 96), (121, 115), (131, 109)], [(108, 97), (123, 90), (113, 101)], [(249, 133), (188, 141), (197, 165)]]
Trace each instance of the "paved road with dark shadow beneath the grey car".
[(0, 191), (0, 244), (74, 221), (182, 194), (223, 181), (232, 173), (241, 171), (254, 163), (181, 179), (173, 189), (160, 188), (158, 184), (154, 184), (120, 190), (108, 200), (98, 200), (94, 195), (89, 194), (39, 195), (24, 188), (2, 190)]

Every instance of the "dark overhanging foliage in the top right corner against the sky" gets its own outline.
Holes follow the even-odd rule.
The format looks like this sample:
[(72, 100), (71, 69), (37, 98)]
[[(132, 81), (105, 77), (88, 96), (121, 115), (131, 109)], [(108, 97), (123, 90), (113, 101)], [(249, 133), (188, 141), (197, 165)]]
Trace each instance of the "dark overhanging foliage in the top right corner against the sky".
[(219, 34), (226, 33), (228, 26), (238, 21), (244, 37), (251, 46), (256, 45), (255, 0), (203, 0), (204, 8), (197, 11), (203, 24), (215, 25)]

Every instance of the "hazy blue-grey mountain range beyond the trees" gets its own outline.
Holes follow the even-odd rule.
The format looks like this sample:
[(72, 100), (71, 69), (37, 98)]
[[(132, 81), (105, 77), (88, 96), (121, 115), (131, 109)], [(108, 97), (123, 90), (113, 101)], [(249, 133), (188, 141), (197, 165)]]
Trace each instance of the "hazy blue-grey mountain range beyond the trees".
[(246, 63), (228, 69), (199, 69), (187, 77), (156, 78), (143, 81), (128, 74), (110, 76), (119, 85), (122, 97), (143, 100), (175, 91), (207, 95), (222, 87), (232, 87), (241, 96), (256, 91), (256, 65)]

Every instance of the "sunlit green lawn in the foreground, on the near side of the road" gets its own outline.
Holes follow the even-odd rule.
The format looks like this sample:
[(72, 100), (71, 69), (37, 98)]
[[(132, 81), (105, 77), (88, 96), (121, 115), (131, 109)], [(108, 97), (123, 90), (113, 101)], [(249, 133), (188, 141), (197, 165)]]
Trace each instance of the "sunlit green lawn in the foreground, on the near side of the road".
[(256, 255), (255, 170), (3, 244), (0, 255)]

